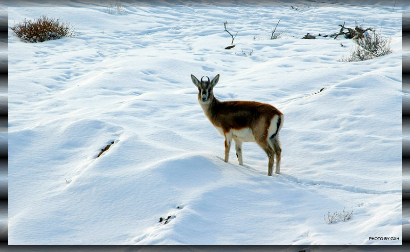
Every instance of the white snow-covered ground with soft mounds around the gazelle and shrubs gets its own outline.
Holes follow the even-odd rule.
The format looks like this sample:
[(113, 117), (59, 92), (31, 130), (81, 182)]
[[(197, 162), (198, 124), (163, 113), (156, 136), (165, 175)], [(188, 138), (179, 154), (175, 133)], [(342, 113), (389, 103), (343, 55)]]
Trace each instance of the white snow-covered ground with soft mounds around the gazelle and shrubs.
[[(10, 245), (401, 244), (400, 8), (124, 10), (9, 9), (10, 26), (46, 14), (78, 33), (9, 30)], [(341, 61), (353, 41), (323, 35), (344, 22), (393, 52)], [(190, 78), (218, 73), (218, 99), (284, 114), (279, 175), (255, 143), (223, 161)]]

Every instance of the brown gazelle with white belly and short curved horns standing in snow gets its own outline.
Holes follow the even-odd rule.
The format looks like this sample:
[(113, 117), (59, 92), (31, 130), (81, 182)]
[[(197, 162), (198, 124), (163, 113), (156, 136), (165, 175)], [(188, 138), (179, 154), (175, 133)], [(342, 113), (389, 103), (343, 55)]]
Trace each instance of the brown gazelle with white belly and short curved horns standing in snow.
[[(202, 80), (207, 77), (208, 80)], [(256, 142), (269, 158), (268, 175), (272, 176), (274, 156), (275, 173), (279, 174), (280, 154), (279, 131), (283, 125), (283, 114), (270, 104), (256, 101), (219, 101), (213, 89), (218, 83), (219, 74), (211, 81), (203, 76), (199, 81), (191, 74), (198, 88), (198, 101), (201, 108), (218, 132), (225, 137), (225, 162), (228, 162), (232, 139), (235, 141), (236, 156), (242, 161), (242, 142)]]

